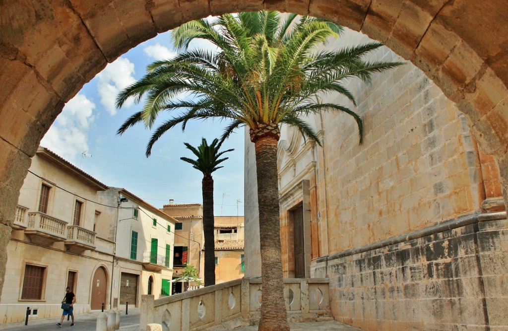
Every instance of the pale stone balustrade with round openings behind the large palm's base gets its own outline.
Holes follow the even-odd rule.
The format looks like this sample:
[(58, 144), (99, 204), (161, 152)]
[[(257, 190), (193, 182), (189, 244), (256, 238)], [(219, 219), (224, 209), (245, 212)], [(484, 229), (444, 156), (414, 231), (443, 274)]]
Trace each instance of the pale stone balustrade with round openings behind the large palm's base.
[[(290, 321), (332, 319), (328, 279), (284, 279)], [(140, 330), (158, 323), (166, 331), (198, 330), (235, 318), (259, 320), (261, 279), (238, 279), (154, 300), (141, 297)]]

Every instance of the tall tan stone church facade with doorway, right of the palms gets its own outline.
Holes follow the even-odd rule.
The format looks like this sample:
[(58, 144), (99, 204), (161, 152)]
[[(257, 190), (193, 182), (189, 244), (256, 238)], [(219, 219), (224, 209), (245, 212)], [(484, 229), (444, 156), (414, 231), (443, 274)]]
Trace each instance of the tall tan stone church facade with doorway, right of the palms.
[[(348, 31), (328, 47), (368, 41)], [(369, 59), (402, 61), (386, 47)], [(281, 130), (284, 277), (329, 278), (334, 318), (366, 330), (506, 327), (499, 173), (465, 116), (410, 63), (347, 86), (364, 121), (362, 145), (346, 114), (307, 118), (322, 146)], [(255, 157), (246, 141), (245, 204), (255, 206)], [(255, 207), (245, 208), (245, 231), (259, 238), (257, 217)], [(246, 277), (261, 274), (255, 242), (246, 242)]]

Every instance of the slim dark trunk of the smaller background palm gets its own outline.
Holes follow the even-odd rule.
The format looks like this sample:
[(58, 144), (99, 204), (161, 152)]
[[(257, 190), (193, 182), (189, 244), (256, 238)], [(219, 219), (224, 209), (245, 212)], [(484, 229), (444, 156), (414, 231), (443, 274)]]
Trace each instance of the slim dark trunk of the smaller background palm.
[(213, 235), (213, 178), (205, 175), (203, 188), (203, 232), (205, 235), (205, 287), (215, 285), (215, 244)]

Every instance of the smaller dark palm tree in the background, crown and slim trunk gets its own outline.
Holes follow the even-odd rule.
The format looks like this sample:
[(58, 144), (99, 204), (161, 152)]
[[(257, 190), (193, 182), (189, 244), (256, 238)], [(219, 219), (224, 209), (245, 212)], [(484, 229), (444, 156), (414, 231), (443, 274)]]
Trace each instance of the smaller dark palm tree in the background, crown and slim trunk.
[(218, 166), (220, 163), (228, 160), (229, 158), (219, 159), (224, 153), (234, 151), (228, 149), (227, 151), (219, 152), (220, 143), (218, 139), (213, 139), (212, 143), (208, 145), (205, 138), (201, 140), (201, 145), (197, 148), (184, 142), (187, 147), (197, 157), (196, 160), (182, 157), (187, 163), (192, 164), (193, 168), (198, 169), (203, 173), (203, 180), (201, 182), (203, 190), (203, 231), (205, 234), (205, 287), (215, 285), (215, 246), (213, 235), (213, 178), (212, 173), (223, 166)]

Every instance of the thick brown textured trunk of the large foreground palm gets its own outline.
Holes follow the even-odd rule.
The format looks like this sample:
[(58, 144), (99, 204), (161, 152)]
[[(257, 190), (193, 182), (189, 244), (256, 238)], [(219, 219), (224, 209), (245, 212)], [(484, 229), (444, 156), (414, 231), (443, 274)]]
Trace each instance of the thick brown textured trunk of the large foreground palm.
[(261, 137), (255, 145), (263, 285), (259, 330), (289, 331), (282, 286), (277, 139)]

